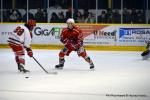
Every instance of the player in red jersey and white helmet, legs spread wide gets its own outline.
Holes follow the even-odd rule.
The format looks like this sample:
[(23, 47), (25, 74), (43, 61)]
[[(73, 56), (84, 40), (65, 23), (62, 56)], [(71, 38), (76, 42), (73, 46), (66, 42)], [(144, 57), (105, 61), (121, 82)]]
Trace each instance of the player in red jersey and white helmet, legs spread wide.
[(90, 64), (90, 69), (94, 69), (94, 64), (83, 47), (81, 29), (74, 25), (75, 22), (72, 18), (69, 18), (66, 23), (67, 28), (64, 28), (60, 35), (60, 41), (64, 44), (64, 48), (59, 53), (59, 64), (55, 68), (62, 69), (65, 62), (64, 57), (69, 56), (72, 51), (76, 51), (78, 56), (83, 57)]

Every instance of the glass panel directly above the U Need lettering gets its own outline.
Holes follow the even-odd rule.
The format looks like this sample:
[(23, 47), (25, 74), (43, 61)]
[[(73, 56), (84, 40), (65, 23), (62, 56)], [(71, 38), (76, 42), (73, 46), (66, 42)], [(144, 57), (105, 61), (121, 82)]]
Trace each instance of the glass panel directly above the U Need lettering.
[(98, 0), (98, 23), (121, 23), (120, 5), (120, 0)]

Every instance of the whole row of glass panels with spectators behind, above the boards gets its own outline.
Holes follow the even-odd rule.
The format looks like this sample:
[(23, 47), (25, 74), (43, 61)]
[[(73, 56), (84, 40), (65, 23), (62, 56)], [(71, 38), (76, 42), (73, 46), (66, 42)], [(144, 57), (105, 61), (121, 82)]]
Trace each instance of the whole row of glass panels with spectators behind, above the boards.
[[(121, 0), (28, 0), (28, 3), (29, 14), (27, 0), (3, 0), (0, 17), (4, 22), (25, 22), (29, 18), (64, 23), (73, 16), (78, 23), (121, 23)], [(123, 23), (150, 23), (147, 9), (150, 9), (149, 0), (123, 0)]]

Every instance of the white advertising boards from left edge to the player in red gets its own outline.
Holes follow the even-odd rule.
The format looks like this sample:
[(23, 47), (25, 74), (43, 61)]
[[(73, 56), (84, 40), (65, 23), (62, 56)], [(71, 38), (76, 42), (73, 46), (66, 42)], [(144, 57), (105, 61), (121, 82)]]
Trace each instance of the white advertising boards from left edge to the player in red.
[[(7, 44), (9, 34), (21, 24), (0, 24), (0, 44)], [(37, 24), (32, 44), (60, 44), (59, 35), (66, 24)]]

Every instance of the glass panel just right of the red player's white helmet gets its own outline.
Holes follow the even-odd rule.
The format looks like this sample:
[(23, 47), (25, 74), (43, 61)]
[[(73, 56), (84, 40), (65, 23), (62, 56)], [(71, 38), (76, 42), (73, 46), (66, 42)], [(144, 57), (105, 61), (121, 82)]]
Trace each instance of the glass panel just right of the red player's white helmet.
[(73, 18), (77, 23), (96, 23), (96, 0), (74, 0)]

